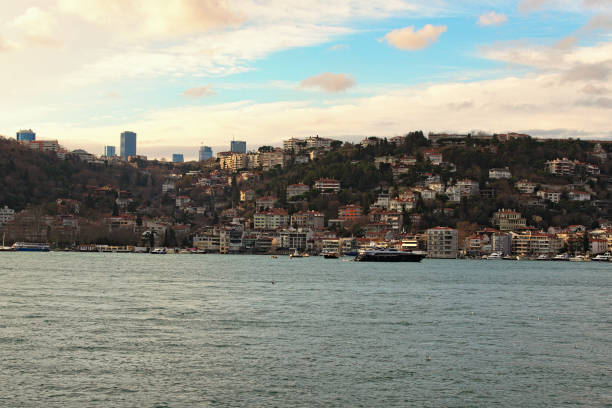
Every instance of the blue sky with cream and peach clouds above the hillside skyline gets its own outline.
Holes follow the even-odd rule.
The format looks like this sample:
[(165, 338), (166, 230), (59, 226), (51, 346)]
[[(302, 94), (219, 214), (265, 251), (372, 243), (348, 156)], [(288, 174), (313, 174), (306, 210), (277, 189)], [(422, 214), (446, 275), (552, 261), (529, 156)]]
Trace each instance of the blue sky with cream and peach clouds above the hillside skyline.
[(612, 0), (0, 0), (0, 134), (612, 139)]

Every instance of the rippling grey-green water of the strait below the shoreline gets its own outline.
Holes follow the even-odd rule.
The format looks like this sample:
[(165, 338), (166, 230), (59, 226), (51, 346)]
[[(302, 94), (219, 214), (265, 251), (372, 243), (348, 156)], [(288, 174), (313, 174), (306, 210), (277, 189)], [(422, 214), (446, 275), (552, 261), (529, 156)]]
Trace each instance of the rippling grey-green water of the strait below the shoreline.
[(0, 265), (2, 407), (612, 406), (612, 264)]

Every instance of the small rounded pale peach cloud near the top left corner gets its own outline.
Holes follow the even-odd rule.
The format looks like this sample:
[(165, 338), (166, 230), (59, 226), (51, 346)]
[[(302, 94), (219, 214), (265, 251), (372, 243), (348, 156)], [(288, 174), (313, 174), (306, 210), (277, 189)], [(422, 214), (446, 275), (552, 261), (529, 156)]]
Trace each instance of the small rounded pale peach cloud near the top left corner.
[(58, 24), (55, 17), (38, 7), (30, 7), (9, 24), (26, 45), (58, 46)]

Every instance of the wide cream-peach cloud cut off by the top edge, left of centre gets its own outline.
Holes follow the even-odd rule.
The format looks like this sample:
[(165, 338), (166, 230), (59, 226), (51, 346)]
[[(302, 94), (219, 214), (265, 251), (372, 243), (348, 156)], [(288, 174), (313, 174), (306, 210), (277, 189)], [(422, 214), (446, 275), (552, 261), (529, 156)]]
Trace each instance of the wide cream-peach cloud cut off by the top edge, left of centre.
[(224, 0), (59, 0), (64, 13), (136, 37), (178, 36), (243, 21)]

